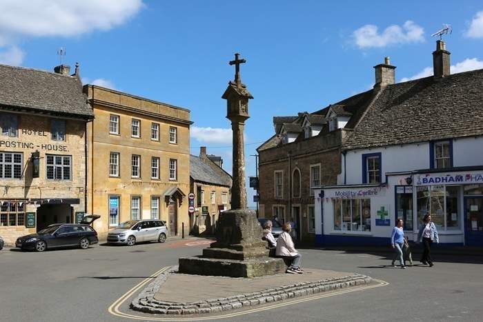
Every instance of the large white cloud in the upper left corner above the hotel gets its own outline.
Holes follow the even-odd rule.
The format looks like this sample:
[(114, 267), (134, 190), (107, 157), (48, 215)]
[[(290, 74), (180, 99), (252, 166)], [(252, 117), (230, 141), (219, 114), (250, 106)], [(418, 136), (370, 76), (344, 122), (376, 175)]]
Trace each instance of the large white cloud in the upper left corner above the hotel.
[[(142, 0), (2, 0), (0, 50), (7, 48), (23, 61), (13, 47), (26, 37), (73, 37), (95, 30), (110, 30), (134, 16)], [(19, 59), (19, 57), (21, 59)]]

